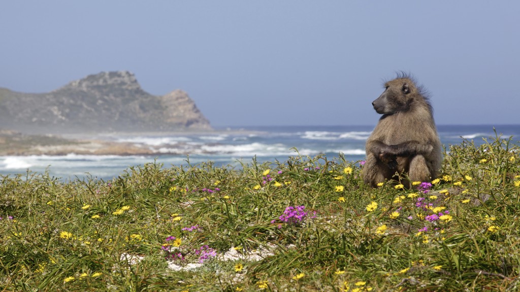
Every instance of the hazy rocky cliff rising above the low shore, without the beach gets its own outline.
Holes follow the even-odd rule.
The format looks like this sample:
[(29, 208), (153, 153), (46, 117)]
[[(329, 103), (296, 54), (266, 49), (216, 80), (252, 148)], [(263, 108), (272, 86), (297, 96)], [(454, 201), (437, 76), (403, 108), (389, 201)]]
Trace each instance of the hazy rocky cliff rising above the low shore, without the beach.
[(27, 133), (211, 130), (186, 92), (153, 96), (127, 71), (89, 75), (45, 94), (0, 88), (0, 128)]

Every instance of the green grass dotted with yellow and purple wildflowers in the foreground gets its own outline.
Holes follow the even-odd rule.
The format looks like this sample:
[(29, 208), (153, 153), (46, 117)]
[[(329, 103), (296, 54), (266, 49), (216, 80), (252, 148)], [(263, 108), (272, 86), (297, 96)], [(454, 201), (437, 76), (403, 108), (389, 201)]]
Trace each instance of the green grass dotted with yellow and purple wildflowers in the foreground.
[[(111, 181), (2, 177), (0, 290), (514, 291), (519, 151), (501, 137), (454, 145), (427, 194), (371, 189), (341, 155), (241, 169), (152, 163)], [(282, 222), (288, 206), (307, 214)], [(434, 211), (447, 216), (426, 220)], [(216, 257), (200, 267), (168, 268), (198, 263), (206, 245)], [(230, 250), (241, 256), (224, 260)]]

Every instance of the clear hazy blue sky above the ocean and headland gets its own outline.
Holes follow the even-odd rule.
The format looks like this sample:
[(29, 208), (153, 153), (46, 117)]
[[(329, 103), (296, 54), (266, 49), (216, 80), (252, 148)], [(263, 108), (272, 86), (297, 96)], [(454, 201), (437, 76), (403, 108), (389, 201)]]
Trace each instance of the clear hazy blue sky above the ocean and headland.
[(375, 125), (397, 71), (437, 124), (520, 124), (518, 1), (5, 1), (0, 87), (128, 70), (213, 126)]

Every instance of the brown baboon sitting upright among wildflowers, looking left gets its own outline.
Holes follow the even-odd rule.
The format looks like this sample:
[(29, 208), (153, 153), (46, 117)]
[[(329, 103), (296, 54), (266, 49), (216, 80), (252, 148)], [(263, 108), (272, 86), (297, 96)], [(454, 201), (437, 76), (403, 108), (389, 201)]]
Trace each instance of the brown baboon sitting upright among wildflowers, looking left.
[(436, 178), (441, 144), (426, 91), (405, 73), (398, 73), (384, 87), (372, 102), (383, 116), (367, 140), (363, 179), (375, 187), (385, 179), (399, 179), (397, 172), (408, 177), (401, 183), (410, 188), (411, 181)]

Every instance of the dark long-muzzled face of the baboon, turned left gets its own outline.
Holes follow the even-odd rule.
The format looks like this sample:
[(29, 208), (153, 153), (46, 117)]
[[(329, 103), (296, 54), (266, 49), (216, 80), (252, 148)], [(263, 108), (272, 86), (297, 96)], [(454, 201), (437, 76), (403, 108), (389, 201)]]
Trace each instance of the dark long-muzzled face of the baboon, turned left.
[(385, 91), (372, 102), (378, 114), (393, 114), (406, 107), (413, 83), (408, 78), (394, 79), (385, 83)]

